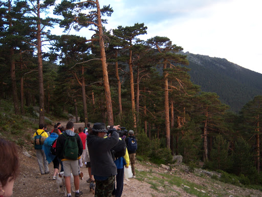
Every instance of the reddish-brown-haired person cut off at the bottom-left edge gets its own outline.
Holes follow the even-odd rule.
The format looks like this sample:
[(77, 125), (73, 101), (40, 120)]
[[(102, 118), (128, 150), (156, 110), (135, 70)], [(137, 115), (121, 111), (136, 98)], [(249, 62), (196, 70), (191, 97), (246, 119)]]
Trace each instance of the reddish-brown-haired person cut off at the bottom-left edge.
[(13, 194), (14, 181), (18, 176), (18, 154), (16, 145), (0, 138), (0, 196)]

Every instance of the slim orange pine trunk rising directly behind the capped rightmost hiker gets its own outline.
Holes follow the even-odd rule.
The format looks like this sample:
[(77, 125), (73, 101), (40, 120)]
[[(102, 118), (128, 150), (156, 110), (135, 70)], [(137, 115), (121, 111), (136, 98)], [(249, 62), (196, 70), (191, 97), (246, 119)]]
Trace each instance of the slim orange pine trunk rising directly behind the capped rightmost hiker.
[[(132, 43), (130, 43), (130, 46)], [(135, 109), (135, 90), (134, 90), (134, 75), (133, 75), (133, 66), (132, 66), (132, 50), (129, 50), (129, 72), (130, 72), (130, 91), (131, 91), (131, 104), (132, 104), (132, 115), (134, 121), (134, 128), (137, 128), (137, 121), (136, 121), (136, 109)]]

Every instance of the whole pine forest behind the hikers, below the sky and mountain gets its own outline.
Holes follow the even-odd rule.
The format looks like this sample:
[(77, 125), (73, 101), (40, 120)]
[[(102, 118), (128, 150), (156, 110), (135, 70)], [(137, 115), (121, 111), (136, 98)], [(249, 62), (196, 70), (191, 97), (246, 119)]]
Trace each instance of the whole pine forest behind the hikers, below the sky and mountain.
[[(98, 0), (0, 1), (0, 102), (12, 100), (18, 116), (39, 106), (39, 124), (65, 111), (85, 126), (119, 124), (135, 131), (138, 154), (151, 161), (180, 154), (186, 164), (261, 184), (262, 96), (232, 112), (192, 83), (181, 46), (157, 35), (140, 40), (143, 23), (106, 30), (112, 12)], [(58, 26), (64, 33), (52, 34)]]

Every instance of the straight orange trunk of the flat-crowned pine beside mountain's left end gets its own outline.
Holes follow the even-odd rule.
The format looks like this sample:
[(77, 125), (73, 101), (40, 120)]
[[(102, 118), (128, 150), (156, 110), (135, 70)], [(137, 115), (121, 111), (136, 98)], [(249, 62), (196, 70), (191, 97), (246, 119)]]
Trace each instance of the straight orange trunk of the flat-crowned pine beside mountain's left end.
[[(166, 62), (164, 62), (163, 69), (166, 69)], [(169, 100), (168, 100), (168, 73), (164, 71), (164, 89), (165, 89), (165, 129), (166, 129), (166, 147), (170, 149), (170, 126), (169, 126)]]

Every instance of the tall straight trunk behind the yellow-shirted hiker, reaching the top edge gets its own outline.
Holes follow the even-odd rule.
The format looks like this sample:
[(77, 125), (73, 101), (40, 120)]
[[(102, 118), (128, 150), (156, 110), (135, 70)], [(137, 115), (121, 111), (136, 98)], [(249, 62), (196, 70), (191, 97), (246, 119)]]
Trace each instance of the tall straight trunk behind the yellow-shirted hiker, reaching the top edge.
[(41, 43), (40, 2), (37, 0), (37, 62), (39, 80), (39, 124), (45, 124), (45, 93), (43, 89), (43, 63)]

